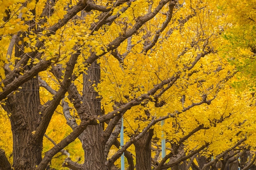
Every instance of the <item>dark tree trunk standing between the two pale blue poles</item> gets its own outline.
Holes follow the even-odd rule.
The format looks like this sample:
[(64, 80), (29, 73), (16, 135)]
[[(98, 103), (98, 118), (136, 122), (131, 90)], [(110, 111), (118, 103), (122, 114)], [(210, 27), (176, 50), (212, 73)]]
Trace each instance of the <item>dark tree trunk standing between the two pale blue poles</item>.
[(154, 130), (150, 129), (134, 143), (136, 152), (136, 170), (151, 170), (151, 139)]

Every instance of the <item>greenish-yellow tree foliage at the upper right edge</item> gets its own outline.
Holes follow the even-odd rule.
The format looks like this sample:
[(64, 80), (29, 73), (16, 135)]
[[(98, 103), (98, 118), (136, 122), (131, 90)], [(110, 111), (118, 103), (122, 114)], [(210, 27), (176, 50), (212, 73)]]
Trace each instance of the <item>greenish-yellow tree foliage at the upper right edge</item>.
[[(222, 53), (231, 64), (236, 65), (240, 77), (233, 86), (255, 91), (256, 20), (255, 1), (240, 0), (222, 3), (222, 10), (237, 15), (227, 15), (228, 24), (223, 26)], [(229, 53), (229, 55), (227, 55)], [(246, 76), (246, 78), (243, 78)]]

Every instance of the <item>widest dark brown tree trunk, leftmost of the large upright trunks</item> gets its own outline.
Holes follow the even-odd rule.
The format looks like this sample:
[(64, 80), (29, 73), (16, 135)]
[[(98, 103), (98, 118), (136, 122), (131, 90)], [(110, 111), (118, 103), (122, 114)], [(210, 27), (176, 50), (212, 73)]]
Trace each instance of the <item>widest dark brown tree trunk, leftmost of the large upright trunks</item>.
[(33, 131), (40, 122), (38, 78), (23, 84), (20, 92), (7, 99), (3, 108), (11, 120), (13, 134), (13, 168), (32, 170), (42, 159), (43, 139), (35, 142)]

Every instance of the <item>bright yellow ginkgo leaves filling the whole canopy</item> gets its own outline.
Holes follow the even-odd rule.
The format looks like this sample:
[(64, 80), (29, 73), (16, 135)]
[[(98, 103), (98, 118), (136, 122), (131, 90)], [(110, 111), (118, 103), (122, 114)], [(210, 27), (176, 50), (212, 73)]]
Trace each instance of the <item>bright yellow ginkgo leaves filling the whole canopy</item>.
[[(157, 139), (162, 138), (164, 131), (164, 137), (170, 141), (168, 143), (170, 148), (171, 144), (177, 143), (200, 125), (204, 125), (205, 129), (184, 141), (187, 152), (209, 143), (205, 154), (219, 155), (234, 146), (246, 133), (248, 139), (245, 144), (253, 145), (256, 142), (253, 138), (256, 120), (255, 106), (252, 103), (255, 101), (252, 99), (252, 94), (245, 90), (247, 86), (254, 89), (255, 85), (251, 81), (247, 86), (235, 89), (234, 84), (239, 79), (243, 79), (245, 83), (248, 81), (247, 77), (243, 77), (244, 75), (234, 77), (232, 74), (236, 68), (240, 68), (241, 63), (245, 63), (249, 66), (244, 71), (249, 73), (247, 74), (249, 78), (255, 80), (256, 64), (250, 65), (250, 61), (244, 60), (241, 56), (254, 55), (248, 44), (255, 43), (255, 35), (252, 35), (255, 24), (247, 22), (249, 20), (252, 22), (256, 18), (254, 12), (256, 1), (178, 1), (179, 4), (173, 9), (171, 21), (166, 24), (164, 30), (160, 31), (167, 17), (170, 17), (167, 15), (169, 10), (167, 4), (151, 20), (138, 26), (143, 16), (152, 13), (159, 2), (159, 0), (147, 2), (135, 0), (130, 4), (123, 3), (114, 7), (112, 2), (95, 1), (97, 5), (106, 6), (106, 9), (110, 10), (106, 12), (109, 18), (117, 16), (111, 24), (106, 23), (96, 29), (94, 26), (109, 18), (102, 19), (102, 13), (95, 9), (90, 12), (82, 10), (66, 20), (66, 14), (74, 10), (78, 3), (75, 0), (56, 1), (49, 16), (48, 13), (41, 16), (46, 0), (2, 0), (0, 2), (0, 82), (6, 78), (4, 66), (8, 66), (10, 71), (14, 68), (19, 69), (17, 76), (20, 76), (26, 74), (23, 67), (33, 68), (45, 60), (50, 61), (51, 65), (47, 70), (45, 69), (46, 71), (41, 71), (39, 76), (53, 91), (58, 91), (64, 86), (62, 82), (68, 68), (67, 62), (70, 61), (71, 56), (79, 54), (72, 77), (77, 78), (73, 79), (72, 83), (82, 95), (84, 83), (82, 73), (88, 74), (91, 64), (88, 63), (88, 59), (92, 59), (92, 56), (94, 59), (99, 57), (97, 62), (101, 67), (100, 83), (92, 82), (91, 89), (99, 94), (97, 99), (101, 99), (101, 109), (105, 114), (118, 108), (117, 104), (121, 106), (133, 100), (139, 101), (138, 105), (134, 104), (136, 106), (129, 108), (124, 114), (125, 141), (135, 133), (137, 135), (142, 132), (152, 120), (169, 114), (172, 116), (165, 120), (163, 126), (157, 123), (152, 128)], [(124, 7), (128, 9), (121, 11)], [(8, 10), (12, 17), (3, 20), (2, 18), (7, 17)], [(244, 18), (246, 20), (243, 20)], [(63, 22), (65, 24), (59, 26)], [(59, 28), (55, 29), (58, 26)], [(137, 31), (132, 35), (126, 35), (133, 29)], [(18, 35), (15, 45), (19, 48), (16, 51), (15, 49), (8, 51), (14, 35)], [(125, 40), (118, 42), (119, 44), (112, 43), (121, 38)], [(152, 48), (145, 50), (152, 44)], [(227, 47), (230, 44), (236, 44), (236, 48), (231, 50)], [(22, 63), (16, 68), (16, 63), (24, 59), (17, 56), (18, 53), (25, 53), (28, 59), (25, 64)], [(36, 55), (31, 57), (32, 53)], [(201, 55), (203, 57), (195, 60)], [(60, 68), (59, 77), (54, 77), (52, 68)], [(154, 94), (149, 93), (150, 89), (171, 77), (177, 80), (175, 79), (174, 82), (173, 78)], [(5, 84), (1, 84), (0, 92), (3, 91), (4, 86)], [(15, 89), (12, 93), (18, 91)], [(54, 100), (54, 94), (45, 88), (40, 88), (39, 94), (42, 107), (45, 107), (48, 101)], [(78, 118), (77, 110), (74, 109), (74, 103), (67, 95), (68, 93), (65, 94), (64, 100), (68, 102), (69, 110), (73, 112), (73, 117), (79, 124), (81, 120)], [(143, 101), (141, 96), (146, 96)], [(204, 104), (199, 104), (202, 101)], [(157, 106), (161, 102), (162, 106)], [(4, 104), (3, 101), (2, 105)], [(117, 113), (120, 114), (119, 111)], [(8, 116), (11, 114), (9, 113)], [(0, 114), (0, 120), (3, 122), (0, 124), (0, 134), (1, 137), (8, 139), (0, 140), (0, 148), (6, 148), (6, 154), (10, 156), (12, 144), (9, 140), (11, 129), (8, 116), (3, 111)], [(99, 119), (97, 123), (100, 123)], [(242, 132), (238, 133), (238, 131)], [(36, 132), (34, 130), (32, 134), (35, 135)], [(70, 132), (72, 129), (66, 124), (62, 107), (59, 105), (45, 134), (59, 143)], [(160, 140), (156, 143), (160, 144)], [(44, 138), (43, 154), (53, 146), (51, 141)], [(65, 149), (70, 152), (72, 160), (83, 162), (83, 149), (78, 139)], [(129, 150), (135, 154), (134, 146)], [(109, 157), (115, 152), (117, 149), (112, 147)], [(56, 155), (51, 166), (59, 168), (65, 157), (61, 154)]]

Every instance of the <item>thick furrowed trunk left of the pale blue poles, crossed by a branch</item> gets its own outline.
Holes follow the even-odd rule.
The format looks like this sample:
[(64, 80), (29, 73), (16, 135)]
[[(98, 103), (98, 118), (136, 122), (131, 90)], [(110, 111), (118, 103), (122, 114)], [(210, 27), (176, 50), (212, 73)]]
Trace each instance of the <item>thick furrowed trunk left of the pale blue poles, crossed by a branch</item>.
[[(90, 115), (101, 115), (100, 99), (94, 90), (100, 79), (100, 66), (94, 61), (88, 68), (87, 75), (83, 75), (83, 102), (90, 110)], [(83, 150), (85, 152), (84, 170), (106, 170), (106, 157), (103, 144), (103, 127), (88, 126), (82, 134)]]

